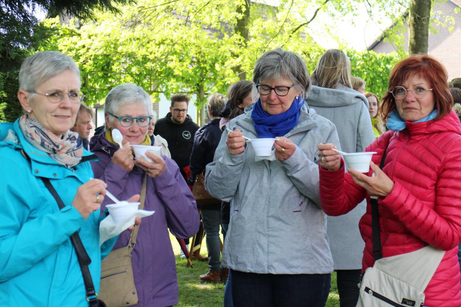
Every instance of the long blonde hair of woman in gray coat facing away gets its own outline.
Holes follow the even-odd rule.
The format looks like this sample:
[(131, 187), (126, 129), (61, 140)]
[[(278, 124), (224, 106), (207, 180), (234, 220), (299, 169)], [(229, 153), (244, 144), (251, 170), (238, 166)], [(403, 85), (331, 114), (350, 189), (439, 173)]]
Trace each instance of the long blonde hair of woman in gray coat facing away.
[(352, 89), (350, 83), (350, 60), (341, 50), (327, 50), (320, 57), (311, 78), (316, 79), (317, 86), (320, 87), (335, 89), (338, 83), (342, 83)]

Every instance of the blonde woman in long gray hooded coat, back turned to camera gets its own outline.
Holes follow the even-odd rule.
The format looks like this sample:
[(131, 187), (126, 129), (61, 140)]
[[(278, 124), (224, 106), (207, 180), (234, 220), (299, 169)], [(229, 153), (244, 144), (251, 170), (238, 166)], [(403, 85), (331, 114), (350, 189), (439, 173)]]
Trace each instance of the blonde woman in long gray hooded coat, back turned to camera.
[[(327, 50), (311, 75), (312, 91), (307, 104), (336, 125), (341, 148), (360, 152), (374, 141), (368, 100), (351, 89), (350, 60), (338, 49)], [(342, 216), (328, 216), (328, 238), (337, 273), (341, 307), (355, 307), (359, 299), (363, 239), (357, 225), (366, 203)]]

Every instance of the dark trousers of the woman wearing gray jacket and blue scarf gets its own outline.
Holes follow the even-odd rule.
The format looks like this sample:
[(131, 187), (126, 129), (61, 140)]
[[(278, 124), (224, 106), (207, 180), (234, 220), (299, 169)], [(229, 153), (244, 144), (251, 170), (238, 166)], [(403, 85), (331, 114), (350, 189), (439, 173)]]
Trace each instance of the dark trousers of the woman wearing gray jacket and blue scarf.
[(231, 273), (235, 307), (323, 307), (330, 290), (330, 274)]

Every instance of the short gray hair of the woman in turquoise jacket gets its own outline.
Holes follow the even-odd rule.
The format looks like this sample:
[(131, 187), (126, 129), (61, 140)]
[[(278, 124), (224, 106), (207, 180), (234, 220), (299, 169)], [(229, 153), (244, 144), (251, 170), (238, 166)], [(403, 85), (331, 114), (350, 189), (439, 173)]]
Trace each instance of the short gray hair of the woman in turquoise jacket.
[(36, 87), (60, 73), (70, 70), (80, 82), (80, 71), (70, 56), (59, 51), (40, 51), (28, 56), (19, 70), (19, 90), (34, 92)]

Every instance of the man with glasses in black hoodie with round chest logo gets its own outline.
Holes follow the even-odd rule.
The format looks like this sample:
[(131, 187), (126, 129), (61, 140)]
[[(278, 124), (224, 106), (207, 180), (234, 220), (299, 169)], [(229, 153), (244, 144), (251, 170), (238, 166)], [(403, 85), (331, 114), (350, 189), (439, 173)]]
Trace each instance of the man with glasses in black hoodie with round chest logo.
[(182, 177), (187, 181), (185, 167), (189, 166), (194, 135), (199, 126), (187, 115), (189, 97), (175, 94), (171, 97), (170, 112), (157, 121), (154, 134), (168, 142), (171, 158), (178, 164)]

